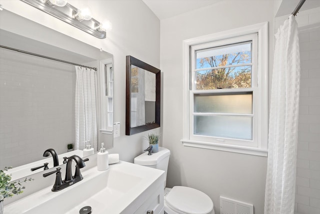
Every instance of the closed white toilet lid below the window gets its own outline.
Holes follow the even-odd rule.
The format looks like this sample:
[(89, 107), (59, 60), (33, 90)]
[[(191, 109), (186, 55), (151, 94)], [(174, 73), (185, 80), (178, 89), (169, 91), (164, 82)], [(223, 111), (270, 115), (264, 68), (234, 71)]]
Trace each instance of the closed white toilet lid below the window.
[(169, 208), (180, 214), (207, 214), (213, 209), (209, 196), (186, 186), (173, 186), (166, 195), (165, 202)]

